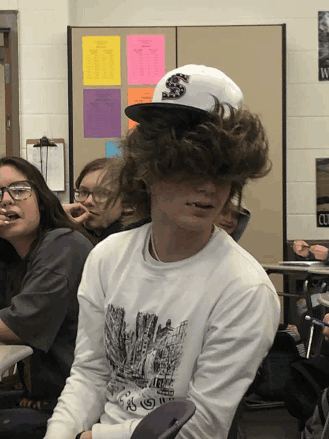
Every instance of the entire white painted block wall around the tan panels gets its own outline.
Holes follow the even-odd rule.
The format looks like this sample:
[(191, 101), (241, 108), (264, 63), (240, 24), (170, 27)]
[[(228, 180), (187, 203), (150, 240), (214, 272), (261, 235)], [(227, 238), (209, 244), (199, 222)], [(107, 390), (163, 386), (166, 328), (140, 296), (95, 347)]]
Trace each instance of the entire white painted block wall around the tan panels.
[(317, 12), (324, 0), (2, 0), (19, 10), (21, 149), (26, 139), (68, 143), (66, 25), (287, 24), (287, 235), (324, 239), (315, 222), (315, 158), (329, 157), (329, 82), (317, 80)]

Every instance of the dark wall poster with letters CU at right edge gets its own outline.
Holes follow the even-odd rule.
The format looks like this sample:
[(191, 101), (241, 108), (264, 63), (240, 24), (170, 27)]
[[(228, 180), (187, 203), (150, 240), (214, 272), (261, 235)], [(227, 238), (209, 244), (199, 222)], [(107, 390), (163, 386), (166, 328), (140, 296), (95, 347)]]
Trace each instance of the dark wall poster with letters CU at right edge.
[(329, 227), (329, 158), (316, 159), (317, 227)]

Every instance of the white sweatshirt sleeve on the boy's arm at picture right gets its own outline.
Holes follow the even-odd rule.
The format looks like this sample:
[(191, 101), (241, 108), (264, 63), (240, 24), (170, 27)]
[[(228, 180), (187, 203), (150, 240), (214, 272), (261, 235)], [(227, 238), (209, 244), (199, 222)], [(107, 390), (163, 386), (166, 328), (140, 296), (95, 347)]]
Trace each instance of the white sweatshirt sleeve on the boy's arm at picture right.
[(273, 343), (280, 321), (276, 293), (259, 285), (236, 297), (240, 300), (212, 311), (188, 385), (187, 397), (197, 409), (177, 439), (226, 439), (236, 408)]

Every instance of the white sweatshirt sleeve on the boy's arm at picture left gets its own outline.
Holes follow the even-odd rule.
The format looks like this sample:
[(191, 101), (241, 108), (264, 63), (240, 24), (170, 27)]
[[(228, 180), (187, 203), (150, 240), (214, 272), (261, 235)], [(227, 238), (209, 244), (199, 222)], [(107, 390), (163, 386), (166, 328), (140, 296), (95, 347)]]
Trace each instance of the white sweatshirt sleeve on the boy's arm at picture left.
[(90, 252), (78, 290), (80, 305), (75, 359), (45, 439), (74, 439), (90, 430), (103, 413), (110, 371), (103, 348), (104, 294), (97, 273), (99, 265)]

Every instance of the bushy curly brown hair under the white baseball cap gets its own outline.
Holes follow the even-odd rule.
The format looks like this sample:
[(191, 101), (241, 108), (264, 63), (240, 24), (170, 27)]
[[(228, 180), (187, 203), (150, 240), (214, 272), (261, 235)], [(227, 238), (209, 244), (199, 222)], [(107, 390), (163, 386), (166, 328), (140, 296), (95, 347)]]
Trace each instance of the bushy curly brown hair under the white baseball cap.
[(145, 112), (143, 122), (121, 141), (124, 165), (119, 192), (141, 217), (150, 214), (147, 186), (152, 182), (180, 176), (224, 180), (232, 183), (228, 202), (234, 195), (240, 202), (247, 181), (271, 170), (259, 117), (214, 99), (215, 108), (203, 115), (174, 108)]

